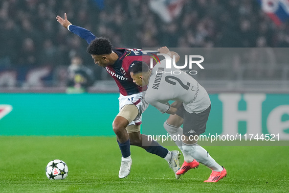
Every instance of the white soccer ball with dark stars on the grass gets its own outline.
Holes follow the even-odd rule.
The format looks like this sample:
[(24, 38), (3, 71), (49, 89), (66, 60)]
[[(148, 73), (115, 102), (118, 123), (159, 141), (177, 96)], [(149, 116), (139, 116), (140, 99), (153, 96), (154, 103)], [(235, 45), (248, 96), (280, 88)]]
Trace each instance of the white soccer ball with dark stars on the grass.
[(67, 173), (68, 167), (62, 160), (52, 160), (46, 166), (46, 176), (50, 180), (63, 180)]

